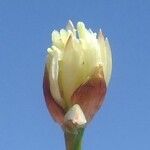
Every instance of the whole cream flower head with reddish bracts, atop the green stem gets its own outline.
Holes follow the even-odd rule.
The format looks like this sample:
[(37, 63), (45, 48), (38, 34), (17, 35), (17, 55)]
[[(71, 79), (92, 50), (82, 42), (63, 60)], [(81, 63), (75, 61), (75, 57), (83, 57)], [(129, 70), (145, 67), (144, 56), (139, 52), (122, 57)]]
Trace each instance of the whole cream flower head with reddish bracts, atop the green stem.
[(108, 39), (82, 22), (75, 29), (69, 21), (66, 29), (52, 32), (47, 52), (43, 82), (47, 107), (59, 124), (84, 126), (102, 105), (111, 77)]

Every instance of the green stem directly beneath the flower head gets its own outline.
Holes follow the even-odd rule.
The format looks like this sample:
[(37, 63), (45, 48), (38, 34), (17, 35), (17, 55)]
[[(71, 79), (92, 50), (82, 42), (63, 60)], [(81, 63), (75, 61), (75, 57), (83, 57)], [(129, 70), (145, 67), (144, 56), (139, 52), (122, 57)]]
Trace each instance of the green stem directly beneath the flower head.
[(82, 150), (82, 138), (84, 128), (76, 130), (77, 132), (64, 131), (66, 150)]

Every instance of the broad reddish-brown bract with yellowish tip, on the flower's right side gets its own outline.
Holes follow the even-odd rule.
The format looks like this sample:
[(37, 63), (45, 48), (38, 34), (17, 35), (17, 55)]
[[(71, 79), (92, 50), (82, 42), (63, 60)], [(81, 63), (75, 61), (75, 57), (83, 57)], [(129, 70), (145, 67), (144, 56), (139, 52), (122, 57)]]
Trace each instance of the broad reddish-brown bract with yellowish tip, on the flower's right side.
[(106, 94), (106, 83), (101, 70), (96, 70), (93, 76), (81, 85), (73, 94), (73, 104), (79, 104), (89, 122), (99, 110)]

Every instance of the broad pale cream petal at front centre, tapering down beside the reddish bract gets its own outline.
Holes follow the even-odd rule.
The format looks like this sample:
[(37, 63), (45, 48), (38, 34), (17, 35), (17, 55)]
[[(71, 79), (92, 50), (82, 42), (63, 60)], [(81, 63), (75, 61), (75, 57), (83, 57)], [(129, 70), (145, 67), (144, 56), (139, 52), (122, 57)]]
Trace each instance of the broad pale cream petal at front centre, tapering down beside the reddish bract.
[[(71, 42), (70, 42), (71, 43)], [(71, 95), (83, 82), (86, 69), (83, 67), (83, 52), (71, 48), (65, 49), (61, 66), (61, 82), (64, 99), (68, 106), (71, 105)], [(83, 68), (83, 69), (82, 69)]]

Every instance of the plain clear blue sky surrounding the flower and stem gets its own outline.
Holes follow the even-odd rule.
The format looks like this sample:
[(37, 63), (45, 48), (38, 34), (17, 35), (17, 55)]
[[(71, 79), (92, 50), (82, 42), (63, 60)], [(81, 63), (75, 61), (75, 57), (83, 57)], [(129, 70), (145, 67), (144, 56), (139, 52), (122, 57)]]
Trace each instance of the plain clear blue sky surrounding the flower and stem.
[(149, 0), (0, 0), (0, 150), (65, 150), (42, 78), (51, 32), (69, 19), (102, 28), (113, 54), (107, 96), (83, 149), (149, 150)]

